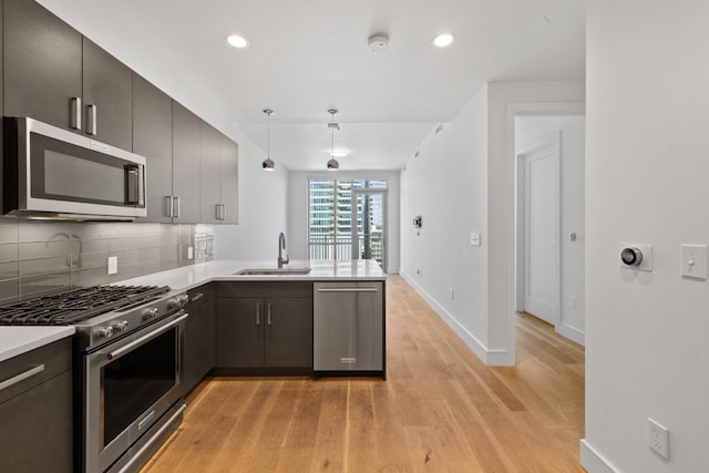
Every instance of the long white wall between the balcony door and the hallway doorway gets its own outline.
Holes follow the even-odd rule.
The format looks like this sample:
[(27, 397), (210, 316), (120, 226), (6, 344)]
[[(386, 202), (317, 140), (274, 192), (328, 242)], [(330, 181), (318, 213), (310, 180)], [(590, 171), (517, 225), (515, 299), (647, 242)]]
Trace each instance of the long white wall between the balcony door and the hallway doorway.
[[(487, 345), (487, 86), (401, 173), (401, 275), (483, 359)], [(412, 225), (421, 215), (422, 228)], [(482, 246), (470, 234), (482, 234)], [(451, 298), (451, 290), (454, 297)]]

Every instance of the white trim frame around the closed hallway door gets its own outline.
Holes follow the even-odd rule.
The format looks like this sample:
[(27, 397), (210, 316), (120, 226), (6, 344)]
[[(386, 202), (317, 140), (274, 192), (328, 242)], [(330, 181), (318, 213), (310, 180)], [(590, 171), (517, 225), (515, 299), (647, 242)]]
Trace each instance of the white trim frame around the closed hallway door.
[[(517, 168), (517, 212), (516, 212), (516, 311), (525, 309), (524, 299), (527, 288), (528, 227), (527, 214), (530, 205), (530, 186), (527, 185), (526, 158), (540, 151), (553, 148), (556, 164), (554, 184), (556, 203), (554, 213), (554, 235), (556, 236), (556, 261), (554, 267), (554, 286), (556, 289), (555, 309), (552, 315), (554, 328), (561, 322), (562, 312), (562, 138), (561, 132), (553, 132), (527, 145), (516, 154)], [(548, 321), (548, 320), (547, 320)]]

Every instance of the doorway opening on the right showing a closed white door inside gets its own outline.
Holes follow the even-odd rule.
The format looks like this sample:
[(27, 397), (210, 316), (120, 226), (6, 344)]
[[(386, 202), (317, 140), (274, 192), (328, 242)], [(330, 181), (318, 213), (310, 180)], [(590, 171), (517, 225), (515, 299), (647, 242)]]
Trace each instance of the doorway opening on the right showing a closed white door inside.
[(516, 157), (516, 304), (585, 341), (585, 116), (520, 115)]

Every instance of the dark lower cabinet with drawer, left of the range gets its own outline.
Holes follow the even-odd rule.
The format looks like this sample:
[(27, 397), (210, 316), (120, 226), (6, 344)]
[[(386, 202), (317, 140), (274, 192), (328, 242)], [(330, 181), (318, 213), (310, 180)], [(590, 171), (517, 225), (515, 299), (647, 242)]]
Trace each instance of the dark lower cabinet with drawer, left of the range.
[(64, 339), (0, 363), (0, 472), (73, 471), (71, 354)]

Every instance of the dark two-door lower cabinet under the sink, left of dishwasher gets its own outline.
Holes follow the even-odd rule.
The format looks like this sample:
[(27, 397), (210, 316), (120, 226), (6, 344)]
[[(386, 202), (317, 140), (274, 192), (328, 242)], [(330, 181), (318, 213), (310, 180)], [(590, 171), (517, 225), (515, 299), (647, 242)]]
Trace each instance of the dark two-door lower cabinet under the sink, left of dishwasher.
[(220, 374), (312, 373), (312, 284), (220, 282), (216, 342)]

